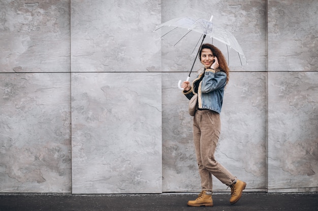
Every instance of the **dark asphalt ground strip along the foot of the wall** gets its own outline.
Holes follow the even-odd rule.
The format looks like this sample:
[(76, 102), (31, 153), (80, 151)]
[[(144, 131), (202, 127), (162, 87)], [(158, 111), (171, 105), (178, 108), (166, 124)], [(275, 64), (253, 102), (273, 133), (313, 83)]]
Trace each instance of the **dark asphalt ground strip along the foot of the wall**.
[(190, 207), (188, 200), (194, 200), (199, 193), (163, 194), (0, 194), (0, 211), (37, 210), (115, 210), (115, 211), (257, 211), (257, 210), (318, 210), (318, 193), (261, 193), (243, 192), (242, 198), (231, 205), (230, 193), (213, 193), (212, 207)]

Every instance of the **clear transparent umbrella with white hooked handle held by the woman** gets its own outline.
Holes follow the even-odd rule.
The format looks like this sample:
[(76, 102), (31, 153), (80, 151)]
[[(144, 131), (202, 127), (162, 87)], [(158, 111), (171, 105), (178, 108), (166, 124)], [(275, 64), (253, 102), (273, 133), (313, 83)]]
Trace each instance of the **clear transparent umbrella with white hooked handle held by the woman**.
[[(175, 19), (169, 20), (169, 21), (167, 21), (165, 23), (162, 23), (162, 24), (158, 25), (156, 27), (155, 31), (160, 29), (160, 28), (162, 28), (162, 27), (165, 27), (165, 26), (168, 26), (168, 27), (173, 26), (173, 28), (171, 30), (169, 30), (167, 33), (165, 33), (164, 35), (161, 36), (161, 37), (163, 37), (163, 36), (166, 36), (167, 34), (169, 34), (170, 32), (174, 31), (177, 28), (186, 28), (186, 29), (188, 29), (188, 32), (185, 33), (176, 42), (176, 44), (174, 44), (174, 46), (177, 45), (191, 31), (199, 32), (199, 33), (201, 33), (201, 37), (200, 37), (199, 41), (197, 42), (195, 48), (198, 46), (201, 38), (202, 38), (202, 41), (201, 41), (201, 45), (202, 45), (205, 37), (206, 36), (210, 36), (211, 38), (214, 38), (214, 39), (220, 41), (221, 43), (223, 43), (223, 44), (225, 44), (227, 46), (228, 62), (229, 62), (229, 48), (230, 48), (230, 49), (233, 49), (233, 50), (235, 50), (237, 52), (238, 57), (239, 57), (240, 62), (241, 62), (241, 65), (242, 65), (241, 56), (243, 58), (245, 58), (245, 56), (244, 56), (243, 50), (242, 50), (241, 46), (238, 44), (236, 38), (234, 37), (234, 35), (231, 32), (229, 32), (225, 28), (219, 27), (219, 26), (216, 26), (215, 24), (213, 24), (212, 23), (212, 18), (213, 18), (213, 16), (211, 16), (210, 20), (203, 19), (203, 18), (189, 17), (189, 16), (181, 17), (181, 18), (175, 18)], [(199, 49), (199, 51), (200, 51), (200, 49)], [(199, 51), (197, 53), (196, 58), (199, 55)], [(188, 77), (186, 79), (187, 81), (190, 78), (190, 74), (191, 74), (192, 69), (193, 69), (193, 67), (195, 65), (196, 58), (195, 58), (195, 61), (194, 61), (193, 65), (192, 65), (192, 68), (191, 68), (191, 70), (189, 72), (189, 75), (188, 75)], [(246, 61), (246, 64), (247, 64), (247, 61)], [(179, 80), (179, 82), (178, 82), (178, 87), (179, 87), (179, 89), (182, 90), (180, 85), (181, 85), (181, 80)]]

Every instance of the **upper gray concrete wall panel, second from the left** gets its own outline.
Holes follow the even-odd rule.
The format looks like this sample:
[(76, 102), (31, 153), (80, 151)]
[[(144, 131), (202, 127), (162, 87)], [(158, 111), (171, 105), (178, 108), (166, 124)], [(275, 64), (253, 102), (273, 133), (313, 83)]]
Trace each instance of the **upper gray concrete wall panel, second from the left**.
[(72, 72), (160, 71), (160, 2), (72, 0)]

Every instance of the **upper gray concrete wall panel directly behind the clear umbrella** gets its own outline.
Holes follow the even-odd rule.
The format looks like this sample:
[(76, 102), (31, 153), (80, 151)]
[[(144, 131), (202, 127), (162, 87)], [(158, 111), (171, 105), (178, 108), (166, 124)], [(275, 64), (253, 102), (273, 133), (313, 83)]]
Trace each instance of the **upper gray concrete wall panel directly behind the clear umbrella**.
[[(210, 19), (212, 22), (233, 33), (242, 47), (248, 61), (242, 58), (243, 67), (238, 54), (229, 48), (229, 64), (233, 71), (266, 71), (267, 46), (266, 46), (266, 1), (170, 1), (162, 0), (162, 22), (173, 18), (194, 16)], [(173, 26), (161, 29), (161, 33), (173, 29)], [(162, 41), (162, 70), (165, 72), (189, 71), (195, 60), (200, 40), (200, 33), (190, 32), (174, 48), (177, 41), (188, 32), (187, 29), (176, 29), (163, 37)], [(200, 41), (201, 42), (201, 41)], [(211, 43), (210, 37), (205, 38), (205, 43)], [(227, 46), (213, 40), (226, 57)], [(200, 44), (199, 44), (200, 45)], [(192, 54), (193, 50), (194, 53)], [(199, 69), (199, 62), (194, 71)]]

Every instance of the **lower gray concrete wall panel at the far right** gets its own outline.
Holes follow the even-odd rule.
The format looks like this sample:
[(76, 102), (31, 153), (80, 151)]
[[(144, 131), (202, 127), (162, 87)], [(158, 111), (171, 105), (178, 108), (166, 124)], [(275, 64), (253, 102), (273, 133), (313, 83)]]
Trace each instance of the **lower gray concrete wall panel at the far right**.
[(317, 191), (318, 72), (268, 75), (269, 191)]

